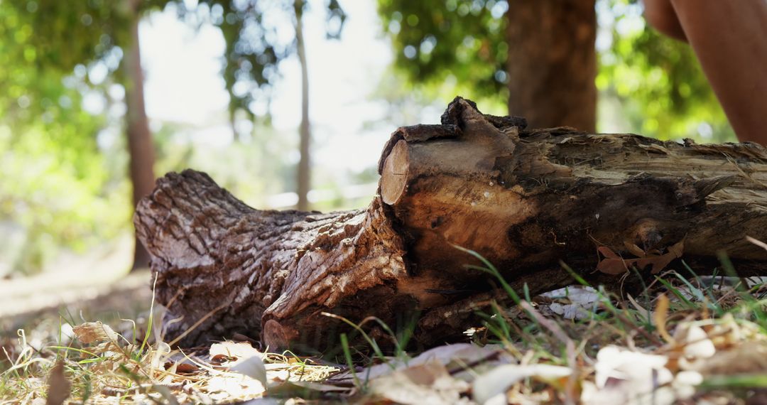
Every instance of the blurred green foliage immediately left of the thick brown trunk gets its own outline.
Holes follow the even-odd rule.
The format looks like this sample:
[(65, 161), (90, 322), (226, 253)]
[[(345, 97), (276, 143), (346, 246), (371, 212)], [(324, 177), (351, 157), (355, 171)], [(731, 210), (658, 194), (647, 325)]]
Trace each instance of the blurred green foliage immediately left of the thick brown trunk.
[(496, 0), (378, 2), (394, 65), (413, 84), (504, 105), (507, 8)]

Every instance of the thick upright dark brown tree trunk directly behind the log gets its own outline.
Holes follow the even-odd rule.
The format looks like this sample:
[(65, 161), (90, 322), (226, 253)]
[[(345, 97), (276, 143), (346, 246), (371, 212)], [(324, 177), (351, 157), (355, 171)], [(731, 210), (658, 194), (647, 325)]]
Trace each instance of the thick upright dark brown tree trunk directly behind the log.
[(594, 0), (509, 0), (509, 115), (530, 127), (596, 128)]

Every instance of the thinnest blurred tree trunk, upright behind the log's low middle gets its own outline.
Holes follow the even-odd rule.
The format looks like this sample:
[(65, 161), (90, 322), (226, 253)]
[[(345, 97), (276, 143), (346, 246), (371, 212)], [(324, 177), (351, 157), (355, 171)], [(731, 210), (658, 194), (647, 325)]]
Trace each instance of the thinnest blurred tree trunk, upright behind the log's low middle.
[(309, 72), (306, 65), (306, 48), (304, 46), (303, 0), (295, 0), (295, 41), (298, 61), (301, 64), (301, 128), (299, 129), (299, 150), (301, 158), (298, 160), (298, 209), (309, 209), (309, 188), (311, 187), (311, 160), (309, 148), (311, 146), (311, 132), (309, 130)]

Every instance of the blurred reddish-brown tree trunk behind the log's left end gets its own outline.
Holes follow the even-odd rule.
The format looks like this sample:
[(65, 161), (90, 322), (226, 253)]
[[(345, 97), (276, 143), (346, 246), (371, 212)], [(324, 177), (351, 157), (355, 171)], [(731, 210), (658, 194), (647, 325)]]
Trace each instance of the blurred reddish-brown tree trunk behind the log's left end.
[[(135, 8), (133, 8), (135, 9)], [(143, 96), (143, 71), (139, 46), (139, 15), (133, 12), (131, 44), (125, 52), (125, 98), (127, 101), (127, 138), (130, 155), (130, 182), (133, 184), (133, 206), (154, 188), (154, 148), (146, 119)], [(149, 266), (149, 253), (136, 239), (131, 269)]]

